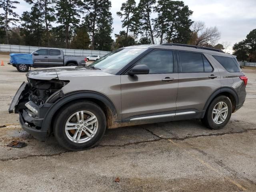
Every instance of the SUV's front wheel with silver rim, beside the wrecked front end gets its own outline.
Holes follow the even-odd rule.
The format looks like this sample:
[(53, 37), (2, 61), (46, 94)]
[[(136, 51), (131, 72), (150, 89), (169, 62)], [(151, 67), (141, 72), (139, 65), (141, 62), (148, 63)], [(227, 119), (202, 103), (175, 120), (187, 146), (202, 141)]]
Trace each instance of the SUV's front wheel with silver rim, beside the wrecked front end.
[[(82, 124), (78, 124), (76, 112), (79, 112), (79, 118), (82, 120), (81, 111), (83, 111), (84, 114), (84, 121)], [(74, 114), (75, 116), (73, 116)], [(92, 120), (89, 120), (90, 118), (92, 118)], [(97, 122), (94, 122), (95, 120), (97, 120)], [(86, 121), (87, 126), (84, 124)], [(75, 123), (76, 125), (66, 126), (67, 123)], [(89, 125), (90, 123), (92, 123), (92, 125)], [(77, 127), (78, 125), (80, 126), (79, 128)], [(106, 116), (97, 104), (89, 101), (73, 102), (58, 112), (54, 125), (54, 136), (62, 147), (71, 151), (79, 151), (95, 146), (104, 135), (105, 130)], [(92, 134), (92, 132), (94, 132), (94, 134)], [(72, 137), (75, 136), (75, 134), (76, 141), (72, 141)], [(90, 138), (88, 134), (92, 138)]]

